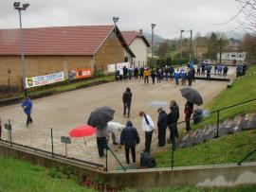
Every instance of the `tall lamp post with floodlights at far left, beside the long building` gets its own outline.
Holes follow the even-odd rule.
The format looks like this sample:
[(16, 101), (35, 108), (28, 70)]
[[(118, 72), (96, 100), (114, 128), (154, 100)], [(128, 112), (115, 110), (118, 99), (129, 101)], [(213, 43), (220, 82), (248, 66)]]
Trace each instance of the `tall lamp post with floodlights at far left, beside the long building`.
[(21, 19), (21, 11), (26, 10), (29, 7), (29, 4), (22, 4), (21, 2), (14, 2), (13, 3), (14, 9), (19, 11), (19, 21), (20, 21), (20, 51), (21, 51), (21, 58), (22, 58), (22, 76), (23, 76), (23, 89), (24, 89), (24, 96), (27, 96), (27, 86), (26, 86), (26, 63), (24, 60), (24, 43), (23, 43), (23, 31), (22, 31), (22, 19)]

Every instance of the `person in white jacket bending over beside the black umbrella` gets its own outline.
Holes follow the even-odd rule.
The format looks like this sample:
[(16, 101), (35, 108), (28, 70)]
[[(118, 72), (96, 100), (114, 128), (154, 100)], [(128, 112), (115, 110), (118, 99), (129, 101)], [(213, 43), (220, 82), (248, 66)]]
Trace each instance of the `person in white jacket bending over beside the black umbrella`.
[(114, 145), (120, 145), (120, 133), (123, 128), (125, 128), (124, 125), (119, 124), (117, 122), (108, 122), (107, 123), (108, 131), (111, 133), (111, 138)]

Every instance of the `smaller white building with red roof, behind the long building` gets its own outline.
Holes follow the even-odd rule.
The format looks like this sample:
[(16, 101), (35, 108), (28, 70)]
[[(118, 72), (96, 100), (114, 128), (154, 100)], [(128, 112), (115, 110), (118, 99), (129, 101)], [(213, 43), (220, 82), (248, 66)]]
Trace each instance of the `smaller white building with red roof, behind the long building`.
[(142, 34), (142, 30), (137, 31), (121, 31), (123, 38), (125, 39), (126, 44), (136, 55), (134, 59), (134, 65), (137, 67), (147, 64), (147, 52), (148, 47), (150, 46), (149, 42)]

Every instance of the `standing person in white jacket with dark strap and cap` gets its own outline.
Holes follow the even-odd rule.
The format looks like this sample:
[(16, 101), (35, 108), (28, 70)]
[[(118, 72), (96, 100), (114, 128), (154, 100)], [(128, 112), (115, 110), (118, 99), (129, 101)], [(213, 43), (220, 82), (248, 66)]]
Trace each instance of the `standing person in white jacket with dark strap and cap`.
[(150, 115), (148, 115), (144, 112), (139, 112), (138, 115), (142, 118), (141, 127), (142, 127), (143, 131), (145, 131), (144, 152), (150, 153), (152, 134), (153, 134), (153, 131), (155, 131), (154, 122), (153, 122), (152, 118), (150, 117)]

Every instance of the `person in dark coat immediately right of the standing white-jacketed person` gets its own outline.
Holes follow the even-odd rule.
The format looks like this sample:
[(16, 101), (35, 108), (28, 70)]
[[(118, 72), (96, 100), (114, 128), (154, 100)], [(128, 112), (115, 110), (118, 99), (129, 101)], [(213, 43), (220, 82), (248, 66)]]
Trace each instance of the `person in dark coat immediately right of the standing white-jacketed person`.
[(165, 137), (166, 137), (166, 128), (167, 128), (167, 114), (162, 108), (157, 110), (159, 113), (157, 127), (158, 127), (158, 147), (165, 147)]

